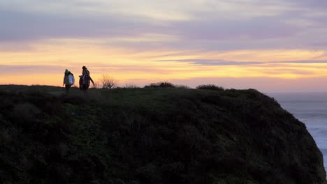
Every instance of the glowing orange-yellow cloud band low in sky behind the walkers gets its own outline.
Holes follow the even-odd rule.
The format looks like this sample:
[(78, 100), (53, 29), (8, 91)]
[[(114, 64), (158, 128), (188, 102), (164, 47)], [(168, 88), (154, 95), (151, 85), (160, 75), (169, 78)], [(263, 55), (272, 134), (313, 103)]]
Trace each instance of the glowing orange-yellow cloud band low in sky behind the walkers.
[[(132, 40), (135, 41), (135, 40)], [(100, 40), (48, 40), (32, 45), (32, 49), (20, 52), (0, 52), (1, 65), (15, 67), (10, 74), (0, 73), (1, 84), (49, 84), (61, 85), (62, 73), (68, 68), (75, 76), (80, 75), (81, 67), (87, 66), (94, 79), (102, 74), (110, 74), (119, 82), (133, 79), (174, 80), (212, 77), (274, 77), (295, 79), (299, 77), (325, 77), (326, 63), (266, 63), (245, 66), (199, 66), (183, 62), (153, 62), (172, 59), (175, 51), (163, 48), (137, 52), (101, 45)], [(324, 59), (324, 51), (312, 50), (241, 50), (229, 52), (181, 51), (173, 59), (224, 59), (231, 61), (296, 61)], [(20, 66), (35, 66), (28, 72)], [(37, 66), (49, 66), (42, 71)], [(20, 73), (19, 70), (22, 72)], [(142, 83), (142, 82), (140, 82)]]

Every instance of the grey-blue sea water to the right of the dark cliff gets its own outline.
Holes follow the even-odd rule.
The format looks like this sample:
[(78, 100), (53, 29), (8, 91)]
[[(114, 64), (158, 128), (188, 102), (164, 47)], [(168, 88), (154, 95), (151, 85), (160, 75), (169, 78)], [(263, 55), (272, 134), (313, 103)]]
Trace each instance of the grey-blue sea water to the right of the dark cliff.
[(288, 112), (307, 126), (327, 167), (327, 93), (271, 93)]

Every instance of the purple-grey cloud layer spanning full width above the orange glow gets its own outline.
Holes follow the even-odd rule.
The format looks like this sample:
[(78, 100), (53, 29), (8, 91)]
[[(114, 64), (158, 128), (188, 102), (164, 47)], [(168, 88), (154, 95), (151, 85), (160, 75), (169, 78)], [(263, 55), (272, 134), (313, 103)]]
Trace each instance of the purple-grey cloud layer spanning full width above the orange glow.
[[(238, 3), (237, 3), (238, 2)], [(289, 3), (291, 2), (291, 4)], [(80, 3), (77, 2), (77, 6)], [(83, 2), (80, 6), (99, 7), (99, 3)], [(235, 1), (233, 6), (255, 6), (257, 8), (276, 6), (277, 3), (257, 1)], [(26, 42), (57, 38), (138, 38), (144, 34), (165, 34), (177, 40), (128, 42), (117, 40), (100, 44), (127, 47), (137, 52), (150, 49), (169, 48), (175, 50), (205, 51), (234, 49), (327, 49), (321, 42), (321, 31), (327, 29), (326, 16), (307, 16), (308, 13), (324, 13), (319, 7), (326, 7), (324, 1), (287, 1), (279, 6), (291, 7), (287, 11), (264, 16), (240, 17), (236, 19), (221, 16), (213, 10), (187, 10), (190, 20), (151, 20), (140, 15), (120, 13), (107, 15), (79, 13), (33, 13), (0, 8), (1, 43)], [(305, 8), (307, 7), (307, 8)], [(246, 11), (247, 9), (244, 8)], [(237, 12), (229, 12), (237, 16)], [(294, 23), (300, 22), (300, 23)], [(301, 22), (312, 24), (305, 26)], [(22, 43), (24, 44), (24, 43)], [(3, 48), (4, 47), (4, 48)], [(7, 49), (2, 45), (3, 49)], [(0, 48), (1, 49), (1, 48)]]

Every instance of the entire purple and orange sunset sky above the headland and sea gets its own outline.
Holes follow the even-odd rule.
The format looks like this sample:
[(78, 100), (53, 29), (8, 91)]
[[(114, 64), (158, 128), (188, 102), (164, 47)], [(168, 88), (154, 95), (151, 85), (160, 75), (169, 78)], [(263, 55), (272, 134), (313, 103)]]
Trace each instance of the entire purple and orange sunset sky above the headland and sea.
[(0, 84), (61, 86), (87, 66), (168, 81), (327, 91), (327, 1), (0, 0)]

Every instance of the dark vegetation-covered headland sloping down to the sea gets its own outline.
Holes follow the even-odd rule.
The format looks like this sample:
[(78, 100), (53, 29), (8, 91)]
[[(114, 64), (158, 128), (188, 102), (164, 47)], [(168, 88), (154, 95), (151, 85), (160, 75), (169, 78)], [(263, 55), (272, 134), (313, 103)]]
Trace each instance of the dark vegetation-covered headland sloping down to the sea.
[(254, 89), (55, 89), (0, 86), (0, 183), (325, 181), (305, 125)]

